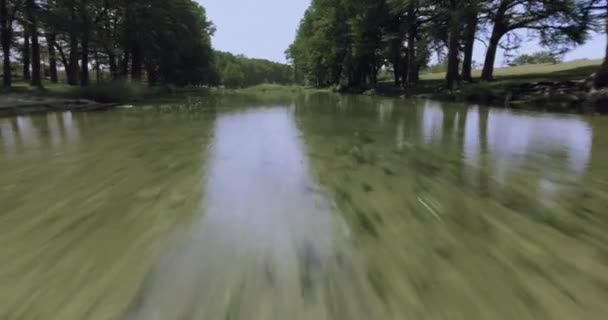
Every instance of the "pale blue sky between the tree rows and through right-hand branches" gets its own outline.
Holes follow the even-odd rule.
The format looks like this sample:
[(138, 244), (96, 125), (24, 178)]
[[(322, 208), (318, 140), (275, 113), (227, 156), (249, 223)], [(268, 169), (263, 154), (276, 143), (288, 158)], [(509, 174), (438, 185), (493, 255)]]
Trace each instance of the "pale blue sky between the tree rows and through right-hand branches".
[[(217, 50), (285, 62), (285, 50), (293, 41), (296, 29), (310, 0), (197, 0), (207, 10), (207, 16), (217, 31), (213, 46)], [(594, 35), (585, 45), (569, 52), (566, 61), (603, 58), (606, 37)], [(519, 54), (543, 50), (536, 42), (524, 43)], [(483, 62), (485, 47), (475, 46), (474, 60)], [(503, 64), (498, 53), (497, 66)]]

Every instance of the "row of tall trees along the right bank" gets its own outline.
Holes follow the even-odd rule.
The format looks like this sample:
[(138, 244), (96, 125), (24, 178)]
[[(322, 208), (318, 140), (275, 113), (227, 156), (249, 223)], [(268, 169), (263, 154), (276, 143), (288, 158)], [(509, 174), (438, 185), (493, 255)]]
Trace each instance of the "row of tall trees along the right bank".
[(489, 81), (499, 48), (517, 47), (522, 31), (563, 53), (601, 28), (607, 7), (605, 0), (313, 0), (286, 54), (296, 77), (316, 86), (373, 85), (387, 68), (408, 87), (436, 52), (453, 88), (472, 81), (476, 40), (487, 45), (482, 79)]

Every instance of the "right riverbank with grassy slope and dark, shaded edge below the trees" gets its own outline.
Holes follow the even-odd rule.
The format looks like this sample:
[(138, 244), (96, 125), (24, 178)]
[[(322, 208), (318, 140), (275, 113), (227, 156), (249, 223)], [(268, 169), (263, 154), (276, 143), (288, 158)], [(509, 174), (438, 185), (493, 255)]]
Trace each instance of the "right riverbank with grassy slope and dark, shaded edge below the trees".
[[(562, 64), (529, 65), (496, 70), (495, 81), (461, 83), (445, 88), (443, 73), (422, 74), (409, 89), (390, 81), (380, 82), (363, 94), (418, 97), (441, 101), (470, 102), (513, 109), (551, 112), (592, 113), (608, 111), (608, 91), (593, 91), (591, 75), (600, 60), (579, 60)], [(474, 77), (479, 74), (474, 73)]]

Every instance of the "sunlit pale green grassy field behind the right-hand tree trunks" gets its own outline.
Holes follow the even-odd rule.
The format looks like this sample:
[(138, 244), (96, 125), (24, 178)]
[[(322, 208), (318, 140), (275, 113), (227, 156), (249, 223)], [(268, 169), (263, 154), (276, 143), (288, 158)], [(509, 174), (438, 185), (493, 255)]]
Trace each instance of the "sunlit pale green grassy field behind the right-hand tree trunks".
[[(496, 68), (497, 80), (534, 80), (534, 79), (580, 79), (594, 73), (602, 60), (575, 60), (559, 64), (535, 64), (517, 67)], [(473, 77), (480, 77), (481, 70), (475, 70)], [(421, 74), (422, 80), (443, 80), (445, 73)]]

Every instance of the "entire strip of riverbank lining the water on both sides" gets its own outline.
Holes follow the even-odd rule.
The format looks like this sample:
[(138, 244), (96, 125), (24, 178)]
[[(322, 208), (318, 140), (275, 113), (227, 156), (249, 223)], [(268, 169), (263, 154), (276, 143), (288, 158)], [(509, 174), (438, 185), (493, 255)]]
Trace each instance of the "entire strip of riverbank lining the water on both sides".
[[(373, 88), (310, 88), (263, 84), (248, 88), (208, 88), (173, 86), (148, 87), (143, 84), (115, 82), (70, 87), (45, 84), (44, 89), (17, 84), (10, 91), (0, 91), (0, 114), (20, 114), (53, 110), (105, 110), (121, 104), (172, 103), (189, 98), (242, 95), (248, 99), (285, 98), (294, 94), (340, 92), (400, 98), (423, 98), (468, 102), (513, 109), (566, 113), (608, 112), (608, 91), (593, 92), (590, 75), (600, 60), (579, 60), (555, 65), (529, 65), (499, 68), (495, 81), (461, 83), (447, 90), (444, 74), (421, 74), (415, 87), (404, 89), (390, 79), (381, 79)], [(473, 76), (479, 76), (474, 73)], [(15, 103), (23, 100), (27, 103)], [(0, 107), (1, 108), (1, 107)]]

